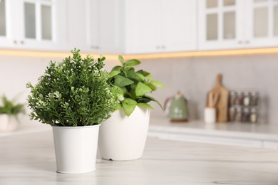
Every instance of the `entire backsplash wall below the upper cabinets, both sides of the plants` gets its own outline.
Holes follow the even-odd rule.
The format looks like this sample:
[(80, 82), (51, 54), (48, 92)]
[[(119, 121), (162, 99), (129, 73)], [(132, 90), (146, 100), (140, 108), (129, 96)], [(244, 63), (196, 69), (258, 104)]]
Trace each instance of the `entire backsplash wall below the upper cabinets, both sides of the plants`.
[[(215, 85), (217, 73), (222, 73), (223, 83), (230, 90), (259, 91), (261, 122), (278, 124), (277, 57), (278, 54), (152, 59), (141, 60), (138, 69), (150, 71), (154, 80), (165, 84), (165, 89), (152, 94), (160, 102), (175, 95), (177, 90), (188, 97), (190, 120), (203, 118), (206, 93)], [(19, 94), (19, 102), (26, 102), (29, 94), (26, 83), (36, 83), (50, 60), (61, 61), (61, 58), (0, 56), (0, 95)], [(113, 65), (115, 61), (107, 61), (106, 68), (110, 70)], [(153, 106), (152, 115), (164, 115), (157, 105)]]

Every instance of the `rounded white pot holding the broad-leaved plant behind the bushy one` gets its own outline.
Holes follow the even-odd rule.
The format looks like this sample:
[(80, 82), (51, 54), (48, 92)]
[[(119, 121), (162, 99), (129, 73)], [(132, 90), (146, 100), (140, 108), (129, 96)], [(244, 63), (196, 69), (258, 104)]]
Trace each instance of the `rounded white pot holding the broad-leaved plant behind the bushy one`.
[(123, 109), (116, 110), (103, 122), (98, 137), (98, 149), (103, 159), (133, 160), (143, 155), (148, 134), (150, 110), (135, 107), (127, 117)]

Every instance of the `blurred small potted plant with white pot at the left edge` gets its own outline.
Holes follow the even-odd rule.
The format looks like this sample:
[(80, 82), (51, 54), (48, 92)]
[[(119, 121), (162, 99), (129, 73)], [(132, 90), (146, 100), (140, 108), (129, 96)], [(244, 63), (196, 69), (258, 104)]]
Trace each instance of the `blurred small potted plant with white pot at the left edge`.
[(19, 114), (24, 113), (24, 104), (9, 100), (5, 95), (1, 96), (0, 103), (0, 130), (12, 131), (17, 128)]

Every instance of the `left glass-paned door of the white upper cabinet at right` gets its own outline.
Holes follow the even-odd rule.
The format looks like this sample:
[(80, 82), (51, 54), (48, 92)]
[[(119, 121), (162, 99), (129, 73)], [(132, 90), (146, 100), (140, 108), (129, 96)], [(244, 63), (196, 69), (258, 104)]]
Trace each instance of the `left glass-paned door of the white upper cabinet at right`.
[(243, 47), (244, 1), (199, 1), (200, 50)]

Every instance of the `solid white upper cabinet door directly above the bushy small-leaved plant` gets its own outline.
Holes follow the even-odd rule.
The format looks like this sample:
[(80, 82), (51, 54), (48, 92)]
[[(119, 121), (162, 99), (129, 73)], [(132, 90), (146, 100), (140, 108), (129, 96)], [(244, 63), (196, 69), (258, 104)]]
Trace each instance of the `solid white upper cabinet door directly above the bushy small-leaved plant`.
[(86, 46), (96, 53), (119, 53), (124, 47), (122, 0), (87, 0)]

